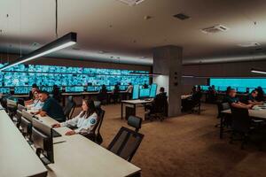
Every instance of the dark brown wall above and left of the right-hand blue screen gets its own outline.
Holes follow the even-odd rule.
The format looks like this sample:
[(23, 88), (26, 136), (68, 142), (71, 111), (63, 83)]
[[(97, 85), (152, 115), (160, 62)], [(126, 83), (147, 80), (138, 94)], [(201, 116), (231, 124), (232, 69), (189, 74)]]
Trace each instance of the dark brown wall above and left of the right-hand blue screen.
[[(183, 75), (203, 77), (266, 77), (250, 70), (266, 70), (266, 61), (233, 62), (201, 65), (183, 65)], [(183, 94), (190, 93), (193, 85), (206, 85), (207, 78), (183, 78)]]

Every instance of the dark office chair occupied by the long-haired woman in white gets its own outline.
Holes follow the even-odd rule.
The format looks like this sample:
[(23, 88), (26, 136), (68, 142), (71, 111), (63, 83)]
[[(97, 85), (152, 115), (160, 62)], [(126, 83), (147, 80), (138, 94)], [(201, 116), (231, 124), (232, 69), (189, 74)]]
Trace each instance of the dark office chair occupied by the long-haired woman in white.
[[(92, 142), (101, 144), (103, 142), (103, 137), (100, 135), (100, 128), (102, 126), (106, 111), (100, 109), (98, 110), (98, 121), (97, 124), (90, 131), (90, 134), (84, 134), (86, 138), (90, 139)], [(97, 132), (97, 133), (96, 133)]]

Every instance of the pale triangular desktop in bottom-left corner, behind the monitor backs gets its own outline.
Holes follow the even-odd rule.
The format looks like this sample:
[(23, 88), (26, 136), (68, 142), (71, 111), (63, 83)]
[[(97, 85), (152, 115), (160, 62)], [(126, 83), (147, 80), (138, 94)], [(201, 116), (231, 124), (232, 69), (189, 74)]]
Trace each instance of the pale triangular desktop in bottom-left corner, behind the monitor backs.
[(0, 176), (46, 176), (47, 169), (4, 110), (0, 118)]

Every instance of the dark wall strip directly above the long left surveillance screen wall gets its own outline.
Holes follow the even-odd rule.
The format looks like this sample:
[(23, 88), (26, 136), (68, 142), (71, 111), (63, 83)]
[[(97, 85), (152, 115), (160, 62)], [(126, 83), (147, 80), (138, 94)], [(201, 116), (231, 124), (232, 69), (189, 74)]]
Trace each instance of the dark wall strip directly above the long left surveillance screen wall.
[[(1, 62), (12, 61), (19, 56), (0, 54)], [(109, 69), (127, 69), (127, 70), (142, 70), (151, 72), (152, 66), (149, 65), (127, 65), (119, 63), (106, 63), (95, 62), (82, 59), (68, 59), (68, 58), (37, 58), (29, 61), (25, 64), (31, 65), (61, 65), (61, 66), (73, 66), (73, 67), (96, 67), (96, 68), (109, 68)]]

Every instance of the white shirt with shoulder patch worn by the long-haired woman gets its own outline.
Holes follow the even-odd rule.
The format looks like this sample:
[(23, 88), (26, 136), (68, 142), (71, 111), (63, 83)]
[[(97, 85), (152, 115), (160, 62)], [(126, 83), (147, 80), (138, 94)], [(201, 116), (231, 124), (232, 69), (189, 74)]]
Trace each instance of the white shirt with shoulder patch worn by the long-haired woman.
[(74, 119), (66, 120), (66, 122), (60, 123), (61, 127), (74, 126), (78, 127), (74, 130), (76, 134), (87, 133), (89, 134), (92, 128), (96, 125), (98, 121), (98, 115), (96, 112), (90, 115), (89, 118), (86, 118), (86, 115), (82, 116), (82, 112), (76, 116)]

